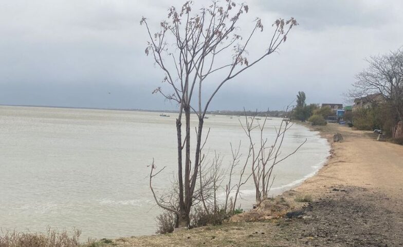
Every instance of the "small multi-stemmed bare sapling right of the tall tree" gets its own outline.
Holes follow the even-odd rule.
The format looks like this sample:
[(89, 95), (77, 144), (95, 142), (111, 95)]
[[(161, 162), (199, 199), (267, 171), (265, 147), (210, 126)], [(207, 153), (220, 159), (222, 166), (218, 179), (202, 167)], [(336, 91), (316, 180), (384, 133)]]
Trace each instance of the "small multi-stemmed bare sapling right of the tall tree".
[[(288, 107), (287, 111), (288, 112)], [(294, 151), (281, 155), (281, 147), (283, 145), (284, 137), (286, 132), (291, 128), (292, 122), (287, 118), (287, 114), (284, 115), (280, 126), (275, 127), (276, 136), (269, 145), (268, 139), (264, 137), (264, 128), (267, 122), (267, 116), (264, 118), (263, 122), (260, 123), (259, 120), (255, 120), (255, 117), (246, 116), (245, 113), (245, 123), (243, 124), (240, 120), (241, 126), (244, 129), (246, 135), (248, 136), (251, 151), (251, 169), (252, 177), (256, 190), (256, 201), (257, 203), (262, 202), (268, 198), (268, 193), (271, 189), (271, 185), (274, 181), (274, 176), (272, 176), (273, 168), (286, 160), (289, 156), (295, 154), (302, 145), (306, 143), (306, 139), (302, 142)], [(252, 137), (252, 131), (254, 129), (259, 129), (260, 138), (258, 144), (256, 144)]]

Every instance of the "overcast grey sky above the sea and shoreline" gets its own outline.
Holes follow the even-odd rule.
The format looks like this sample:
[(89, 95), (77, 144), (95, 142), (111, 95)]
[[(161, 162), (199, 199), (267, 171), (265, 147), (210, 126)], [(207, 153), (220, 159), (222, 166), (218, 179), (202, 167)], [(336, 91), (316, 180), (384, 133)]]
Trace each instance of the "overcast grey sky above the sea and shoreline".
[[(194, 10), (211, 1), (195, 0)], [(142, 16), (157, 31), (178, 0), (0, 0), (0, 104), (174, 110), (152, 91), (164, 74), (144, 54)], [(210, 110), (283, 110), (304, 91), (307, 103), (349, 103), (365, 58), (403, 46), (401, 0), (249, 0), (242, 33), (259, 16), (264, 32), (248, 48), (264, 51), (279, 17), (295, 17), (276, 54), (225, 84)], [(223, 60), (224, 61), (224, 60)], [(206, 84), (208, 95), (219, 75)], [(166, 86), (166, 85), (162, 85)], [(166, 88), (166, 87), (164, 87)]]

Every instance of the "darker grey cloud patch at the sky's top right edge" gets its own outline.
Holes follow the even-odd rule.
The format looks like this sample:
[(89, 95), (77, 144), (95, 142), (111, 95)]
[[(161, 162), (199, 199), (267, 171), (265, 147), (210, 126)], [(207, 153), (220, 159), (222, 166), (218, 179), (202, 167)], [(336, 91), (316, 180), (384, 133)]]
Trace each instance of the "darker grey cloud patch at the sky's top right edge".
[(398, 1), (371, 0), (259, 0), (258, 4), (265, 11), (297, 17), (304, 29), (379, 27), (396, 20), (400, 13), (394, 7), (402, 7)]

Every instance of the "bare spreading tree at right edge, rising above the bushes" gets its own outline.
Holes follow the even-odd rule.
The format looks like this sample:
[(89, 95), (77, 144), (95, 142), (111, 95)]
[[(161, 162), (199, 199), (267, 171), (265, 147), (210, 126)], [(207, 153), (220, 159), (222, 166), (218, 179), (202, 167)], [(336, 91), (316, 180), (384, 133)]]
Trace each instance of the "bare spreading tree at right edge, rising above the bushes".
[(391, 51), (388, 54), (372, 56), (367, 59), (369, 66), (356, 75), (354, 90), (348, 95), (350, 98), (365, 97), (367, 101), (377, 97), (367, 97), (379, 94), (394, 109), (399, 120), (403, 120), (403, 48)]

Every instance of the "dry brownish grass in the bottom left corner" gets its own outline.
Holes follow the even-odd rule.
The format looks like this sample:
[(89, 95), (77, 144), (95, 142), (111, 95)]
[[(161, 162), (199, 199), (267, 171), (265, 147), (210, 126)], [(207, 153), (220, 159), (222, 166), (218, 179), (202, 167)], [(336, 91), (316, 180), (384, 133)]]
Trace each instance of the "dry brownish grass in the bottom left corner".
[(48, 227), (46, 233), (6, 232), (0, 235), (0, 247), (78, 247), (81, 231), (73, 230), (71, 236)]

